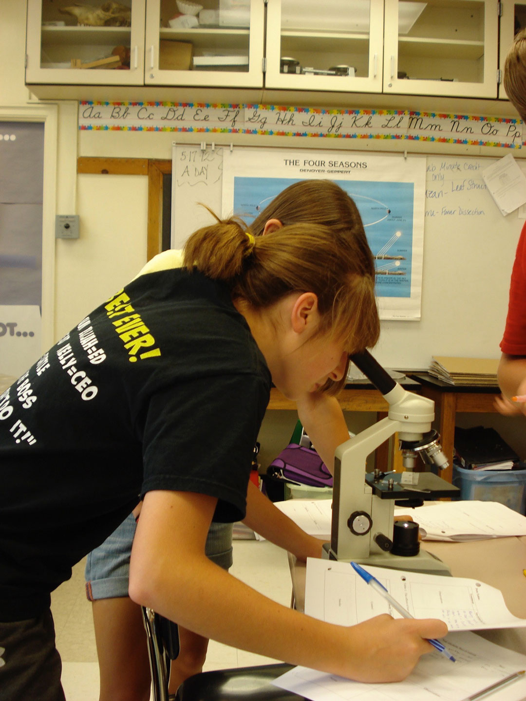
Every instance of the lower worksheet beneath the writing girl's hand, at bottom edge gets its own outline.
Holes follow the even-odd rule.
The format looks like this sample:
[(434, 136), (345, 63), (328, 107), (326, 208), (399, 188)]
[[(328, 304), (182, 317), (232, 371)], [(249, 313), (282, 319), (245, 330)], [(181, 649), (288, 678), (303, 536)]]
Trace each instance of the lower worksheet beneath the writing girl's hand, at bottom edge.
[[(463, 701), (526, 669), (525, 655), (494, 645), (475, 633), (450, 633), (445, 644), (457, 662), (435, 651), (424, 655), (412, 674), (396, 683), (361, 683), (306, 667), (294, 667), (273, 683), (312, 701)], [(526, 679), (514, 681), (487, 698), (524, 701)]]

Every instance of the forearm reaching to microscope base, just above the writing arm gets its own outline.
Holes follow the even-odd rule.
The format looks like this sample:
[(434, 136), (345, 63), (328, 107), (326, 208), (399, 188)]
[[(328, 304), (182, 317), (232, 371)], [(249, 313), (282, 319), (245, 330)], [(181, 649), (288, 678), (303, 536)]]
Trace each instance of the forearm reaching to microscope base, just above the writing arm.
[(247, 515), (243, 523), (299, 560), (321, 557), (323, 540), (309, 536), (285, 516), (252, 482), (248, 483)]

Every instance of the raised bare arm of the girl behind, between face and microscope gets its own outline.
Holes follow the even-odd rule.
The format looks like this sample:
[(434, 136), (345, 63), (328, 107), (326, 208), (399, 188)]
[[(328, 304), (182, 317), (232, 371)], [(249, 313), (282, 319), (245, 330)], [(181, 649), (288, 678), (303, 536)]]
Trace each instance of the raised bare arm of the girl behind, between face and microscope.
[(311, 439), (316, 452), (330, 472), (334, 470), (337, 447), (349, 440), (342, 407), (336, 397), (309, 392), (297, 400), (299, 421)]

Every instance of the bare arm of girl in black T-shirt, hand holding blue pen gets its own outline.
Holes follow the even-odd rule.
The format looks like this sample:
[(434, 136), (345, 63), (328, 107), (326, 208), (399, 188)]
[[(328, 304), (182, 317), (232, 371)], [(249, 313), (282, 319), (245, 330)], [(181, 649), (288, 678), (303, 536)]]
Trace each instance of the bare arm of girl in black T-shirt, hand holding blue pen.
[(424, 638), (446, 634), (441, 621), (387, 614), (332, 625), (267, 599), (205, 557), (215, 504), (201, 494), (148, 492), (133, 540), (133, 601), (203, 637), (358, 681), (405, 679), (434, 649)]

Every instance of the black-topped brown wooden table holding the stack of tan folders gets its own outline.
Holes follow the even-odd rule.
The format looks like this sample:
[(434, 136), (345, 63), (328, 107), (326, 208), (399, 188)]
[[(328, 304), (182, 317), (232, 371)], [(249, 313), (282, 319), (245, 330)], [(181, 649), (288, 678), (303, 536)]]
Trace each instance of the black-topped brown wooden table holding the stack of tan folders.
[(447, 470), (440, 477), (452, 481), (454, 454), (454, 427), (457, 414), (493, 414), (495, 397), (500, 389), (494, 387), (453, 386), (434, 378), (426, 372), (413, 372), (411, 377), (420, 383), (419, 394), (435, 402), (435, 417), (438, 420), (438, 433), (445, 456), (450, 461)]

